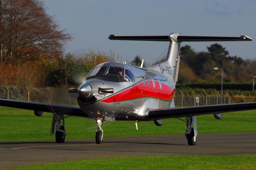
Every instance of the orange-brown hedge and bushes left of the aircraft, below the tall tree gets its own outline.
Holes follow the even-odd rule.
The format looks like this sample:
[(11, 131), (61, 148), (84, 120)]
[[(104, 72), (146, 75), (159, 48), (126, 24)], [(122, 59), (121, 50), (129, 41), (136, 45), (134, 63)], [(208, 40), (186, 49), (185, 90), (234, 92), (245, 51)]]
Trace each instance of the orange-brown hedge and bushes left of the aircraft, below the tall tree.
[(25, 63), (0, 63), (0, 85), (22, 87), (77, 86), (95, 65), (118, 60), (113, 51), (89, 50), (66, 54), (57, 59), (38, 59)]

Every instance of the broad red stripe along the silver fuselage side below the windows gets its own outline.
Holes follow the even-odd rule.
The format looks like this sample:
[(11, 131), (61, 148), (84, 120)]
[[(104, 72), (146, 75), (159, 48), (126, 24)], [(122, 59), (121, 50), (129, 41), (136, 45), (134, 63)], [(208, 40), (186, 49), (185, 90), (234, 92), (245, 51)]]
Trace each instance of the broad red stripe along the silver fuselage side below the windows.
[(144, 82), (131, 87), (130, 89), (126, 89), (121, 91), (118, 94), (112, 95), (106, 99), (103, 99), (102, 102), (112, 103), (112, 102), (120, 102), (127, 101), (132, 99), (138, 99), (141, 97), (153, 97), (160, 100), (172, 100), (174, 97), (175, 89), (172, 89), (168, 85), (162, 84), (162, 89), (160, 89), (160, 85), (158, 81), (155, 82), (155, 88), (153, 86), (153, 81), (150, 80), (150, 86), (148, 86), (148, 81), (146, 80), (146, 86), (144, 86)]

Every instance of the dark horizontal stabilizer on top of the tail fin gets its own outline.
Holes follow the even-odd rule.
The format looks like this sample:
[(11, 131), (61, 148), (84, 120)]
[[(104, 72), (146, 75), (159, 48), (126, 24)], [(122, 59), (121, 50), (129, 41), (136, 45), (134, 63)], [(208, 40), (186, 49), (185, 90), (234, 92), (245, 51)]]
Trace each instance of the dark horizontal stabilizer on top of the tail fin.
[(181, 36), (170, 34), (170, 36), (116, 36), (111, 34), (110, 40), (131, 40), (131, 41), (158, 41), (158, 42), (218, 42), (218, 41), (252, 41), (248, 36), (240, 37), (212, 37), (212, 36)]

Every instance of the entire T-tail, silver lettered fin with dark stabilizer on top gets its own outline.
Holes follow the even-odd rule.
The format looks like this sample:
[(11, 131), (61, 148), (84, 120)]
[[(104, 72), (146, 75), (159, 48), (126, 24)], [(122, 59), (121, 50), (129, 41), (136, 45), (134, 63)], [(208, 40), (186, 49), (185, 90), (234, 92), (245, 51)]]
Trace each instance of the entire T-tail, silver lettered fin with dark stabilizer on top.
[(216, 42), (216, 41), (252, 41), (248, 36), (240, 37), (212, 37), (212, 36), (181, 36), (180, 34), (170, 34), (169, 36), (115, 36), (110, 35), (110, 40), (133, 40), (133, 41), (162, 41), (170, 42), (166, 61), (149, 67), (159, 71), (167, 77), (178, 80), (180, 63), (180, 43), (181, 42)]

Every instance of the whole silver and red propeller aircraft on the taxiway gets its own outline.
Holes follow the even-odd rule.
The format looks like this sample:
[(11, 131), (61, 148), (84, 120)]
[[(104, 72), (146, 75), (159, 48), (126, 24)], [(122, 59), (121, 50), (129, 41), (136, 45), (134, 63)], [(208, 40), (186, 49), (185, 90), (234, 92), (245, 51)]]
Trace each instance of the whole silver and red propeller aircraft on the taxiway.
[(0, 105), (33, 110), (36, 116), (42, 116), (43, 112), (53, 113), (50, 135), (54, 133), (56, 127), (57, 143), (65, 140), (64, 119), (66, 117), (94, 119), (98, 125), (95, 137), (97, 144), (102, 143), (101, 125), (104, 121), (135, 121), (136, 123), (137, 121), (154, 121), (156, 126), (162, 126), (162, 119), (184, 117), (188, 144), (195, 145), (198, 134), (196, 116), (213, 114), (216, 119), (221, 119), (224, 112), (256, 109), (256, 102), (174, 108), (181, 42), (252, 41), (247, 36), (209, 37), (170, 34), (169, 36), (110, 35), (108, 38), (110, 40), (162, 41), (170, 42), (170, 45), (166, 61), (149, 68), (118, 62), (96, 65), (78, 88), (68, 89), (69, 93), (77, 93), (79, 107), (6, 99), (0, 99)]

